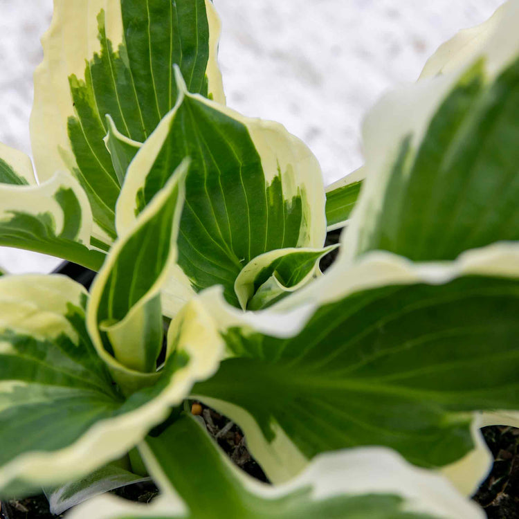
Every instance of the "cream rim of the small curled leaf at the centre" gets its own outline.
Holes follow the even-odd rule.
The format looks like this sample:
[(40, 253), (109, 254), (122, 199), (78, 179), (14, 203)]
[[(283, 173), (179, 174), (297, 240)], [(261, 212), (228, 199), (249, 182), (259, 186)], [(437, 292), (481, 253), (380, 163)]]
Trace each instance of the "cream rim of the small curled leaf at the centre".
[(298, 253), (318, 253), (319, 256), (316, 259), (316, 264), (313, 266), (311, 271), (304, 276), (304, 278), (293, 286), (284, 286), (277, 277), (274, 276), (275, 283), (280, 291), (284, 292), (295, 292), (299, 290), (302, 286), (307, 284), (309, 280), (316, 277), (316, 275), (320, 275), (319, 270), (319, 260), (334, 251), (334, 249), (338, 248), (338, 245), (331, 245), (325, 248), (278, 248), (275, 251), (268, 251), (268, 253), (260, 254), (255, 257), (254, 260), (251, 260), (242, 268), (242, 271), (238, 274), (238, 277), (235, 280), (235, 293), (238, 298), (238, 302), (242, 309), (246, 309), (248, 300), (254, 295), (254, 281), (258, 273), (260, 273), (264, 268), (269, 266), (271, 263), (275, 262), (275, 260), (280, 257), (287, 256), (289, 254), (298, 254)]

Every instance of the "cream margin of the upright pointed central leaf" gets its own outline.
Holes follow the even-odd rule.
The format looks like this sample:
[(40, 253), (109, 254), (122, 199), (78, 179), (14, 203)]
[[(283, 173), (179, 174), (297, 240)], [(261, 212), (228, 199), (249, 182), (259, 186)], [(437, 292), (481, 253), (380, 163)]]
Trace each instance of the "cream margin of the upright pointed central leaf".
[(247, 118), (228, 107), (203, 98), (201, 95), (189, 93), (178, 67), (175, 67), (175, 78), (179, 88), (179, 98), (175, 107), (161, 120), (129, 165), (116, 206), (118, 233), (124, 232), (125, 228), (134, 221), (137, 193), (143, 187), (146, 176), (161, 151), (176, 112), (184, 98), (188, 97), (206, 104), (213, 110), (224, 113), (224, 115), (237, 120), (248, 129), (262, 160), (267, 184), (271, 183), (273, 178), (277, 176), (278, 168), (282, 172), (289, 171), (289, 174), (282, 174), (283, 192), (286, 199), (297, 194), (298, 186), (305, 188), (307, 206), (311, 208), (311, 218), (310, 215), (307, 215), (307, 217), (311, 221), (309, 222), (309, 236), (300, 237), (298, 246), (322, 247), (326, 237), (325, 188), (318, 161), (307, 145), (302, 140), (289, 134), (277, 122)]

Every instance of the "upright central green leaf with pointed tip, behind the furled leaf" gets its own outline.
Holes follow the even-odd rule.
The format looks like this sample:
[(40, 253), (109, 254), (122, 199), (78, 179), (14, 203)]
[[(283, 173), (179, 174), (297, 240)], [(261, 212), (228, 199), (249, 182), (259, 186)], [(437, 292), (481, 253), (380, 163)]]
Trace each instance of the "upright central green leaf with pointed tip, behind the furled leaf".
[(190, 156), (176, 282), (193, 294), (222, 284), (226, 298), (239, 306), (235, 280), (255, 257), (278, 248), (322, 247), (322, 176), (309, 149), (282, 126), (244, 118), (188, 93), (178, 69), (176, 81), (175, 109), (127, 172), (117, 229), (131, 225), (183, 157)]

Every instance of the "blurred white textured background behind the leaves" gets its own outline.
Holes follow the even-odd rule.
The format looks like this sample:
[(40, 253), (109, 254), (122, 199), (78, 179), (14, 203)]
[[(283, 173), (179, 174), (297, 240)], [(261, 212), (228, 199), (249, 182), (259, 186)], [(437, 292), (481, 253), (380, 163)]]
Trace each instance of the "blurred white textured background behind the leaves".
[[(228, 105), (282, 122), (316, 154), (327, 184), (362, 164), (361, 122), (381, 94), (415, 81), (442, 42), (502, 3), (214, 1)], [(0, 0), (0, 141), (28, 154), (33, 71), (51, 14), (52, 0)], [(48, 272), (59, 263), (0, 248), (0, 266), (12, 273)]]

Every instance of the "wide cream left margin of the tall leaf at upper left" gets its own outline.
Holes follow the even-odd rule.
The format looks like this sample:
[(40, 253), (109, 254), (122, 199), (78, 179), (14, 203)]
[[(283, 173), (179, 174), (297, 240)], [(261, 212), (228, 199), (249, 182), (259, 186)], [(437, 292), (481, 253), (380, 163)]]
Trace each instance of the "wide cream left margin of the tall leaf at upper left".
[[(44, 60), (34, 74), (29, 124), (40, 182), (51, 179), (58, 169), (70, 170), (76, 165), (67, 133), (67, 120), (75, 115), (69, 75), (84, 78), (85, 60), (100, 52), (97, 15), (103, 8), (107, 11), (107, 36), (115, 45), (122, 40), (122, 22), (109, 17), (113, 3), (113, 0), (54, 0), (51, 26), (42, 36)], [(92, 235), (106, 244), (112, 241), (98, 224), (93, 224)]]

